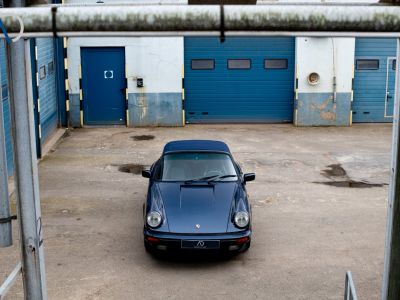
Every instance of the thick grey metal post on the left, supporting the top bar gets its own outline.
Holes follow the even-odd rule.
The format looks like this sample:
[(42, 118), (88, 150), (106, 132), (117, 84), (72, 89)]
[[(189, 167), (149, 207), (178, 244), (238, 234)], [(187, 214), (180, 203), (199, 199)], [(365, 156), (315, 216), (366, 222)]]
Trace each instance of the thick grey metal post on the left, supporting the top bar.
[[(24, 1), (12, 0), (12, 6)], [(22, 277), (25, 299), (47, 299), (42, 219), (40, 212), (29, 41), (10, 45), (11, 128), (14, 146), (15, 195), (20, 225)]]

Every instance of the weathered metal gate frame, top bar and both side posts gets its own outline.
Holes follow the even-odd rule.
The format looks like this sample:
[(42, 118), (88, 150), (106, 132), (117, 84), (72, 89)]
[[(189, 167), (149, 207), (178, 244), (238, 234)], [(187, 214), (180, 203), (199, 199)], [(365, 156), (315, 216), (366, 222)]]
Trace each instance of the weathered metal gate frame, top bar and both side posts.
[[(9, 65), (12, 131), (18, 219), (21, 228), (22, 274), (27, 299), (47, 299), (42, 245), (40, 196), (34, 151), (32, 95), (27, 89), (29, 45), (21, 37), (56, 36), (380, 36), (397, 38), (400, 61), (400, 7), (376, 5), (163, 6), (104, 5), (23, 8), (11, 0), (0, 19), (11, 37)], [(23, 20), (23, 21), (22, 21)], [(109, 20), (104, 23), (104, 20)], [(19, 32), (19, 33), (18, 33)], [(3, 36), (4, 38), (4, 36)], [(400, 68), (395, 90), (400, 90)], [(385, 269), (382, 299), (400, 297), (400, 93), (395, 93)], [(28, 99), (28, 101), (27, 101)], [(38, 255), (36, 255), (38, 253)]]

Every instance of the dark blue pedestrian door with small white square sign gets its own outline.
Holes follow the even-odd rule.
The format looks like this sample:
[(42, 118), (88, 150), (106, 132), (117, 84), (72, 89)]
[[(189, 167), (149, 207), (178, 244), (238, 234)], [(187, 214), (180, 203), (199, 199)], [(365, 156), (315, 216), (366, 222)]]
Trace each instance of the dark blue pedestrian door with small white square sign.
[(82, 48), (83, 122), (126, 123), (124, 48)]

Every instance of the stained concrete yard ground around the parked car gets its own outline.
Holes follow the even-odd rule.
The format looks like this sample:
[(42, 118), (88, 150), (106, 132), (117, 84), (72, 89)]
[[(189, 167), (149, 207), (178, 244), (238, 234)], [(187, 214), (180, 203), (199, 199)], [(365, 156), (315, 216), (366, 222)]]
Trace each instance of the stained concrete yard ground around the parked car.
[[(150, 165), (174, 139), (223, 140), (257, 174), (248, 184), (247, 253), (145, 252), (147, 181), (119, 167)], [(391, 125), (378, 124), (73, 130), (39, 167), (49, 299), (343, 299), (347, 270), (360, 299), (378, 299), (390, 147)], [(18, 260), (17, 245), (0, 249), (0, 280)], [(8, 299), (21, 291), (19, 281)]]

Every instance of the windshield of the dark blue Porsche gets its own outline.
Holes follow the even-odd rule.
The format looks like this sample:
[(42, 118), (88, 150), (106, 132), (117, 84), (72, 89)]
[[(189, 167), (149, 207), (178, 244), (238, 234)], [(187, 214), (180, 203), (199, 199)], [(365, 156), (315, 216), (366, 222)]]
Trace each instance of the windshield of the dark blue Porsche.
[(224, 153), (185, 152), (165, 154), (156, 170), (161, 181), (235, 181), (231, 157)]

